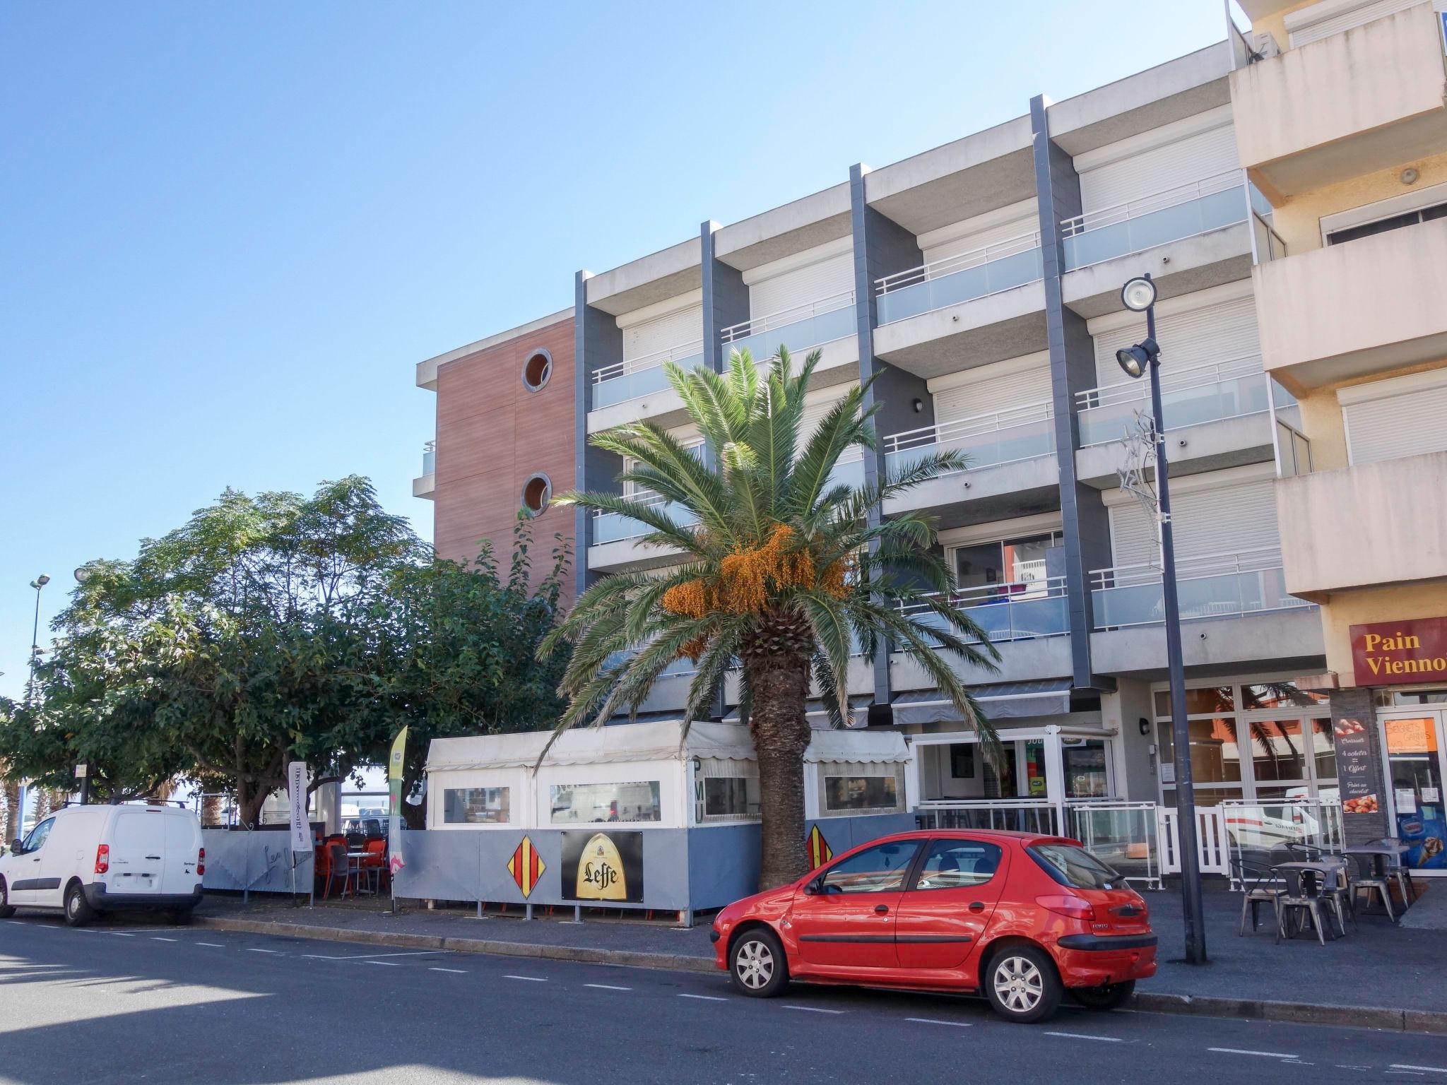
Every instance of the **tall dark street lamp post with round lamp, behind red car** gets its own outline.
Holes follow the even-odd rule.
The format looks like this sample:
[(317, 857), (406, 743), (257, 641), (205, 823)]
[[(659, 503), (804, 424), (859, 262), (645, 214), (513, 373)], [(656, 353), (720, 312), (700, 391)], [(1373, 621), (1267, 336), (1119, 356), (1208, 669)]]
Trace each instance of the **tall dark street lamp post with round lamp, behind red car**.
[(1146, 340), (1116, 352), (1129, 376), (1150, 370), (1150, 437), (1155, 444), (1156, 493), (1160, 522), (1160, 595), (1165, 602), (1166, 663), (1171, 671), (1171, 736), (1175, 754), (1176, 830), (1181, 856), (1181, 898), (1185, 916), (1185, 959), (1204, 965), (1205, 920), (1201, 914), (1201, 861), (1195, 842), (1195, 790), (1191, 777), (1191, 732), (1185, 712), (1185, 665), (1181, 660), (1181, 603), (1176, 597), (1175, 538), (1171, 524), (1171, 472), (1166, 463), (1160, 409), (1160, 346), (1156, 343), (1156, 285), (1150, 275), (1127, 282), (1120, 298), (1126, 308), (1146, 314)]

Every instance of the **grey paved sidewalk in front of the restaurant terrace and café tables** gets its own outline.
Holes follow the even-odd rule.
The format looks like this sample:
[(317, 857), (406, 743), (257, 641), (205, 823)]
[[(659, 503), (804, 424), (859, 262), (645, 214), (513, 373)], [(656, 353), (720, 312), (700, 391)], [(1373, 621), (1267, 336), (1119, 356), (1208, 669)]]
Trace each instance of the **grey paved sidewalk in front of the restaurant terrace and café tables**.
[[(1181, 962), (1184, 929), (1176, 891), (1145, 894), (1160, 936), (1160, 968), (1142, 981), (1136, 1008), (1213, 1017), (1307, 1021), (1447, 1034), (1447, 887), (1428, 890), (1401, 926), (1363, 916), (1359, 930), (1325, 946), (1305, 936), (1275, 945), (1269, 923), (1237, 937), (1240, 897), (1205, 893), (1211, 963)], [(407, 907), (392, 916), (378, 904), (318, 904), (208, 895), (198, 923), (262, 933), (326, 937), (463, 952), (546, 956), (567, 961), (712, 972), (708, 920), (683, 930), (666, 922), (619, 920), (557, 909), (553, 919), (524, 922), (521, 913)], [(1265, 916), (1263, 916), (1265, 919)]]

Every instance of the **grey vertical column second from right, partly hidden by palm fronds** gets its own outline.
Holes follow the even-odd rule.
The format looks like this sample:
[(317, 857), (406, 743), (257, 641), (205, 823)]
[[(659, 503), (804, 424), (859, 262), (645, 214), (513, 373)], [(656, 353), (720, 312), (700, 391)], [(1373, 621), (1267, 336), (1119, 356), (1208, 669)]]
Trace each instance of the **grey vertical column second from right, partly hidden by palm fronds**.
[[(933, 399), (926, 383), (881, 362), (874, 354), (874, 328), (878, 327), (878, 301), (874, 284), (886, 275), (919, 266), (919, 242), (909, 230), (870, 207), (864, 175), (868, 166), (849, 166), (849, 216), (854, 230), (854, 318), (860, 347), (860, 383), (865, 386), (862, 408), (878, 407), (874, 417), (881, 435), (933, 422)], [(915, 414), (913, 402), (929, 405), (930, 414)], [(884, 443), (864, 453), (864, 485), (875, 486), (886, 477)], [(878, 524), (884, 511), (870, 509), (870, 524)], [(874, 703), (890, 703), (890, 650), (883, 641), (874, 652)]]

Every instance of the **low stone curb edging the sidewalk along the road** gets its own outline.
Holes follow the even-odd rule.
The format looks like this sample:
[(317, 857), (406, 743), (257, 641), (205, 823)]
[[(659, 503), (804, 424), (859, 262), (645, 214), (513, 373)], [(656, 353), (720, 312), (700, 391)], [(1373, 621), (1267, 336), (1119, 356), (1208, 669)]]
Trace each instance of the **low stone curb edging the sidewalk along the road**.
[[(528, 942), (501, 942), (478, 937), (444, 937), (440, 935), (402, 935), (383, 930), (352, 930), (349, 927), (313, 927), (301, 923), (278, 923), (259, 919), (227, 919), (197, 916), (195, 924), (217, 930), (237, 930), (249, 935), (281, 935), (313, 937), (324, 942), (355, 942), (398, 949), (447, 949), (454, 953), (493, 953), (496, 956), (540, 958), (547, 961), (576, 961), (589, 965), (627, 965), (658, 968), (671, 972), (705, 972), (718, 969), (712, 958), (682, 953), (645, 953), (628, 949), (590, 949), (585, 946), (548, 946)], [(1130, 1000), (1139, 1013), (1185, 1014), (1197, 1017), (1237, 1017), (1253, 1021), (1291, 1021), (1294, 1024), (1334, 1024), (1350, 1029), (1382, 1029), (1385, 1031), (1427, 1033), (1447, 1036), (1447, 1011), (1388, 1010), (1372, 1005), (1320, 1005), (1314, 1003), (1278, 1003), (1265, 998), (1218, 998), (1213, 995), (1182, 995), (1142, 992)]]

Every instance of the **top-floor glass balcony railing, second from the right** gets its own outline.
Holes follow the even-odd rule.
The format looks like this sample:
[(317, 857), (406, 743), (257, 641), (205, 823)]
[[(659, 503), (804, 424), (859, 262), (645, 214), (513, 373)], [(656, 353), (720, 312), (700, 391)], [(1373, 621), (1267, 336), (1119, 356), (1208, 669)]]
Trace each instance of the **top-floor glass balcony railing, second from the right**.
[(1039, 230), (932, 260), (874, 284), (880, 324), (1023, 286), (1043, 273)]

